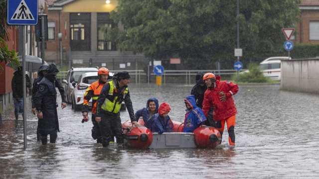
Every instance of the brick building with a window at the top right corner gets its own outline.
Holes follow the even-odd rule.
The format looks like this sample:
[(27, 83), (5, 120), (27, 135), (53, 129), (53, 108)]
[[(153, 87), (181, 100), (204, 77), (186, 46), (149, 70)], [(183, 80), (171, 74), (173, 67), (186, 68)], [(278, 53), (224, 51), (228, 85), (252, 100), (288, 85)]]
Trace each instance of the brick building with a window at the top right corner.
[(302, 0), (300, 22), (296, 25), (297, 43), (319, 44), (319, 0)]

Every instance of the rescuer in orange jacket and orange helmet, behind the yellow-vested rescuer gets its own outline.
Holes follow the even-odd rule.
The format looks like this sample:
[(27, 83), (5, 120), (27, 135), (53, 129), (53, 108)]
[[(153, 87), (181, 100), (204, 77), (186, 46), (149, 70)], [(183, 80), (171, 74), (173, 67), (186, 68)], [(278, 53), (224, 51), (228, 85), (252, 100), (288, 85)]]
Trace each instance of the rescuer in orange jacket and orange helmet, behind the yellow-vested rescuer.
[(99, 80), (96, 82), (93, 82), (91, 86), (86, 89), (84, 92), (84, 101), (83, 101), (83, 107), (82, 107), (82, 115), (83, 120), (82, 122), (87, 122), (88, 117), (88, 111), (89, 111), (89, 101), (92, 98), (92, 138), (97, 140), (97, 143), (101, 143), (101, 133), (98, 123), (95, 121), (95, 115), (96, 115), (96, 106), (97, 101), (99, 98), (99, 95), (103, 89), (104, 84), (107, 82), (109, 77), (109, 70), (105, 67), (102, 67), (98, 70), (98, 76)]

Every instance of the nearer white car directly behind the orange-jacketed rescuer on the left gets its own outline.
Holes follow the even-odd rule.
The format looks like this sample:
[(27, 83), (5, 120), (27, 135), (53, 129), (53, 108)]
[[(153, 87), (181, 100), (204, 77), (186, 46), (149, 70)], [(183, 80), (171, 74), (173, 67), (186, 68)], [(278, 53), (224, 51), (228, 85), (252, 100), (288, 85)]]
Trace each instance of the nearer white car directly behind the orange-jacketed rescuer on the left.
[[(108, 81), (110, 81), (112, 77), (113, 73), (110, 73)], [(91, 86), (93, 82), (96, 82), (97, 80), (99, 80), (97, 72), (87, 72), (80, 75), (77, 85), (71, 92), (72, 109), (75, 111), (82, 109), (84, 92)], [(89, 101), (89, 106), (92, 107), (92, 98)]]

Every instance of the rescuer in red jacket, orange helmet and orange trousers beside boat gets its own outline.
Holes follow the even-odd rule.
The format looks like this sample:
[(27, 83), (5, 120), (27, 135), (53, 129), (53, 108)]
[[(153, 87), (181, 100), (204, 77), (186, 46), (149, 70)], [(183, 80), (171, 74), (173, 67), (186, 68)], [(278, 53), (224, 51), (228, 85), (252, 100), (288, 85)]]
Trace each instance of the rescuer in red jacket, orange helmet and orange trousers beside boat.
[(235, 120), (236, 107), (233, 95), (238, 92), (238, 85), (229, 81), (220, 81), (220, 77), (215, 77), (212, 73), (206, 73), (203, 80), (207, 86), (204, 93), (203, 112), (207, 117), (210, 107), (213, 107), (213, 119), (220, 134), (223, 134), (225, 122), (227, 123), (228, 142), (230, 146), (235, 146)]

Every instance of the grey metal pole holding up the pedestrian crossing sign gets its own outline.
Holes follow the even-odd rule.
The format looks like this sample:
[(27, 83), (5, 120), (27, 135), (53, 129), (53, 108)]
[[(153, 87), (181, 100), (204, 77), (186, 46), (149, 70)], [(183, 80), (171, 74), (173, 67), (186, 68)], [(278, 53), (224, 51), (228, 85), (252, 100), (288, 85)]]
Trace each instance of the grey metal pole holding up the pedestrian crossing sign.
[(26, 149), (25, 25), (22, 25), (23, 149)]

